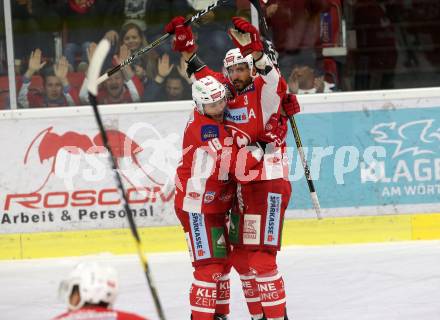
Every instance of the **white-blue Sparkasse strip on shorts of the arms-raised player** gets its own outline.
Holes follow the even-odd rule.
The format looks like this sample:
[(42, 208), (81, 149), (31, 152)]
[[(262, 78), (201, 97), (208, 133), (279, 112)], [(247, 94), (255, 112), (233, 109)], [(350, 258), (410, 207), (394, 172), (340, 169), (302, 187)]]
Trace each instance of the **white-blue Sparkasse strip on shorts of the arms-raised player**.
[(277, 246), (280, 235), (281, 194), (267, 195), (266, 228), (264, 230), (264, 244)]

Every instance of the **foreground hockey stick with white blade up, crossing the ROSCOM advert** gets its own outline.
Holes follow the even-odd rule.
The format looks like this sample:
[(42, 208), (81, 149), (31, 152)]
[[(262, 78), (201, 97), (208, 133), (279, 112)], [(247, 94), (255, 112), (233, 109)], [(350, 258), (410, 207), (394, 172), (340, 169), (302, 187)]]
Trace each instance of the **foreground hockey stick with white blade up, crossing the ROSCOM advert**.
[(159, 300), (159, 295), (157, 293), (156, 286), (155, 286), (153, 279), (151, 277), (147, 257), (145, 256), (145, 253), (144, 253), (145, 251), (143, 250), (143, 247), (142, 247), (141, 238), (139, 237), (138, 229), (136, 227), (136, 223), (134, 221), (130, 205), (128, 204), (127, 194), (125, 192), (124, 185), (122, 184), (122, 179), (119, 174), (119, 171), (117, 170), (116, 159), (115, 159), (115, 156), (113, 154), (112, 149), (110, 148), (110, 146), (108, 144), (107, 133), (105, 132), (104, 124), (102, 123), (101, 115), (98, 110), (97, 79), (98, 79), (99, 73), (101, 71), (101, 67), (104, 62), (104, 59), (107, 56), (107, 53), (109, 50), (110, 50), (110, 42), (107, 39), (101, 40), (101, 42), (99, 42), (99, 44), (98, 44), (98, 47), (96, 48), (95, 53), (93, 54), (92, 61), (90, 61), (90, 67), (89, 67), (89, 71), (87, 73), (87, 78), (89, 79), (89, 83), (87, 86), (87, 90), (89, 92), (89, 100), (90, 100), (90, 103), (92, 104), (92, 107), (93, 107), (93, 113), (95, 115), (95, 119), (98, 124), (101, 136), (102, 136), (102, 141), (103, 141), (104, 146), (108, 150), (109, 155), (110, 155), (109, 160), (112, 165), (112, 171), (113, 171), (113, 174), (114, 174), (114, 177), (116, 180), (116, 184), (118, 186), (120, 196), (122, 197), (122, 200), (123, 200), (124, 210), (127, 213), (128, 224), (130, 226), (131, 234), (133, 235), (135, 242), (136, 242), (137, 252), (138, 252), (139, 258), (141, 260), (142, 267), (144, 268), (145, 276), (147, 277), (147, 283), (148, 283), (148, 287), (150, 288), (150, 292), (151, 292), (151, 295), (154, 300), (154, 305), (156, 306), (156, 310), (159, 315), (159, 318), (161, 320), (165, 320), (165, 316), (164, 316), (162, 306), (161, 306), (160, 300)]

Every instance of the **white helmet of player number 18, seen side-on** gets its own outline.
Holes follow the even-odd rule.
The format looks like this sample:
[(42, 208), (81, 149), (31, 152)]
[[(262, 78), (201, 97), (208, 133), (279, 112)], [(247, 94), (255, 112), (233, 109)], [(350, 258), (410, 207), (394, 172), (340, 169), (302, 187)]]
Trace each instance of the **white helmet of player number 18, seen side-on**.
[(214, 103), (225, 98), (226, 89), (223, 84), (212, 76), (206, 76), (192, 84), (192, 96), (196, 104), (197, 111), (205, 114), (203, 106)]

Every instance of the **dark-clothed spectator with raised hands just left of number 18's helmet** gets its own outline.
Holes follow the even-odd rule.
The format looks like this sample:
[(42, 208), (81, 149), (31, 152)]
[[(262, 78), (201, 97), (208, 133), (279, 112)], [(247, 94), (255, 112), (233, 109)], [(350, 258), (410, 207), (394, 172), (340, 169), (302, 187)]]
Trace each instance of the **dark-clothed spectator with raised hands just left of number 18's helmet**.
[(174, 69), (170, 56), (164, 54), (158, 61), (158, 74), (145, 88), (143, 101), (169, 101), (191, 99), (191, 80), (186, 74), (186, 61), (182, 57), (180, 66)]

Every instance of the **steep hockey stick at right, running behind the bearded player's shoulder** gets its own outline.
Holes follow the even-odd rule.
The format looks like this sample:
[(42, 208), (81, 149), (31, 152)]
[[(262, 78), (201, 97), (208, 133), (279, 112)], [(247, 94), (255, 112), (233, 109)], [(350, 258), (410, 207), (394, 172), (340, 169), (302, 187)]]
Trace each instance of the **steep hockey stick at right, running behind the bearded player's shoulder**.
[[(276, 50), (273, 43), (270, 41), (269, 28), (264, 18), (263, 10), (261, 9), (260, 0), (249, 0), (249, 2), (254, 6), (258, 13), (258, 24), (260, 25), (260, 33), (265, 38), (265, 49), (268, 56), (272, 61), (277, 64), (276, 61)], [(301, 142), (301, 136), (299, 135), (298, 126), (296, 125), (295, 118), (293, 116), (289, 117), (290, 126), (292, 127), (293, 136), (295, 138), (296, 147), (298, 149), (299, 156), (304, 168), (304, 174), (307, 179), (307, 185), (310, 191), (310, 198), (312, 199), (313, 208), (315, 209), (318, 219), (322, 219), (321, 216), (321, 206), (319, 204), (318, 195), (315, 190), (315, 185), (313, 184), (312, 175), (310, 174), (310, 168), (307, 164), (306, 156), (304, 154), (303, 145)]]

